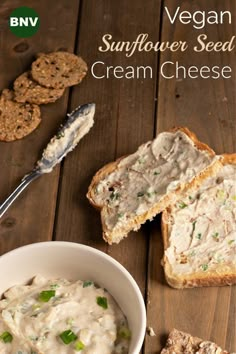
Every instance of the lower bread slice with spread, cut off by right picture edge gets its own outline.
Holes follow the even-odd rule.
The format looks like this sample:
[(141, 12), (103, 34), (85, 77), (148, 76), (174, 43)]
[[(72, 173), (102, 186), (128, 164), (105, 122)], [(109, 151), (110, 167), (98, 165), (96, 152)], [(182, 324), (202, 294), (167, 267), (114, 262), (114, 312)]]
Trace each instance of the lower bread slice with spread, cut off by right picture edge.
[(162, 214), (166, 280), (174, 288), (236, 283), (236, 154)]

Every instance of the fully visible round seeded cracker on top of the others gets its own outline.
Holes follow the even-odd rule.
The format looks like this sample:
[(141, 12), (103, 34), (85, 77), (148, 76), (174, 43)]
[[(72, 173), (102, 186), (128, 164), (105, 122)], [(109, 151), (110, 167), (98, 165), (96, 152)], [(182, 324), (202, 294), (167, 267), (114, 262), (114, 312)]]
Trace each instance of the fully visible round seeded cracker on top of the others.
[(42, 54), (32, 63), (31, 74), (45, 87), (65, 88), (80, 83), (88, 67), (85, 61), (72, 53)]

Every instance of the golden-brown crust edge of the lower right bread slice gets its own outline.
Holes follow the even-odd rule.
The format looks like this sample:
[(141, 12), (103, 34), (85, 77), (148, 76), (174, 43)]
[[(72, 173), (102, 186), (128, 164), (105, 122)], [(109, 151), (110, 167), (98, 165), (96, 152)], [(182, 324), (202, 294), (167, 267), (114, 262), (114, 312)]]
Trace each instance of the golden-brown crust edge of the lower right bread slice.
[[(236, 154), (223, 154), (221, 156), (221, 164), (222, 166), (228, 164), (236, 165)], [(171, 218), (171, 214), (172, 208), (169, 206), (163, 211), (161, 218), (164, 251), (166, 251), (169, 247), (169, 228), (167, 220)], [(218, 267), (217, 271), (214, 272), (198, 272), (190, 275), (178, 276), (174, 274), (171, 264), (165, 255), (162, 259), (162, 265), (164, 267), (166, 281), (173, 288), (182, 289), (201, 286), (224, 286), (236, 284), (236, 270), (234, 267), (232, 267), (231, 270), (227, 269), (227, 271), (224, 267)]]

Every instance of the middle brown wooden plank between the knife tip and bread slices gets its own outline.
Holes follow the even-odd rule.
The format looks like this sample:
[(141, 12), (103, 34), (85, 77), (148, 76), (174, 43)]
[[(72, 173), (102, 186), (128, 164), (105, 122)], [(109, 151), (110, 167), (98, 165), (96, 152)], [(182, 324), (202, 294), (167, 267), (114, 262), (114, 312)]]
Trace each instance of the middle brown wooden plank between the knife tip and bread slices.
[[(156, 53), (99, 53), (98, 46), (105, 33), (115, 40), (135, 40), (138, 33), (149, 33), (158, 40), (160, 7), (157, 1), (144, 6), (135, 4), (89, 0), (83, 2), (79, 28), (78, 53), (89, 67), (97, 61), (106, 65), (150, 65), (156, 70)], [(90, 22), (93, 26), (90, 26)], [(87, 43), (89, 42), (89, 46)], [(76, 87), (72, 106), (78, 102), (97, 104), (95, 126), (71, 156), (65, 160), (60, 191), (55, 238), (82, 242), (106, 251), (121, 262), (137, 280), (145, 294), (148, 237), (145, 227), (132, 233), (119, 245), (108, 247), (102, 240), (99, 213), (85, 199), (94, 173), (105, 163), (131, 153), (143, 142), (152, 139), (155, 109), (155, 79), (127, 80), (111, 77), (95, 79), (91, 74)], [(73, 173), (71, 173), (73, 171)]]

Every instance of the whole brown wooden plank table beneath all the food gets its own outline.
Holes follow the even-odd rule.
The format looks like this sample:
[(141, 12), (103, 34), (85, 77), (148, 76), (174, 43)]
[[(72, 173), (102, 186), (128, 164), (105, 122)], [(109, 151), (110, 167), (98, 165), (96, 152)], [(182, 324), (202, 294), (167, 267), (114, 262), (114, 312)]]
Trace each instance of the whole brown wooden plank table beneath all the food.
[[(0, 5), (1, 89), (29, 68), (37, 52), (58, 49), (81, 54), (89, 67), (101, 60), (113, 66), (153, 68), (154, 77), (145, 80), (95, 79), (89, 73), (81, 85), (42, 108), (43, 121), (34, 133), (21, 141), (0, 144), (3, 201), (32, 169), (66, 112), (78, 104), (96, 103), (96, 124), (91, 132), (51, 174), (35, 181), (0, 220), (0, 254), (34, 242), (66, 240), (96, 247), (117, 259), (136, 279), (146, 300), (147, 323), (156, 332), (156, 337), (146, 336), (146, 354), (159, 353), (173, 327), (236, 350), (236, 288), (171, 289), (160, 266), (160, 218), (119, 245), (108, 246), (101, 238), (99, 214), (85, 198), (91, 178), (101, 166), (173, 126), (188, 126), (217, 153), (236, 151), (235, 51), (198, 55), (192, 51), (135, 52), (131, 58), (122, 52), (98, 51), (105, 33), (130, 41), (139, 33), (148, 33), (153, 42), (182, 39), (190, 45), (201, 32), (215, 41), (226, 41), (234, 34), (234, 0), (182, 1), (182, 10), (231, 10), (233, 24), (207, 25), (201, 32), (192, 25), (170, 24), (164, 6), (174, 11), (179, 4), (177, 0), (26, 0), (24, 5), (33, 7), (41, 19), (39, 32), (29, 39), (15, 37), (7, 25), (10, 12), (22, 6), (22, 1), (5, 0)], [(167, 60), (186, 66), (231, 65), (234, 78), (166, 80), (159, 69)]]

